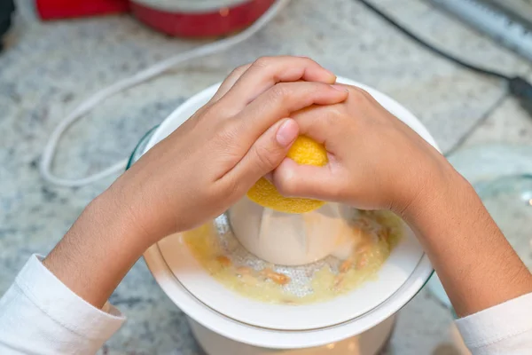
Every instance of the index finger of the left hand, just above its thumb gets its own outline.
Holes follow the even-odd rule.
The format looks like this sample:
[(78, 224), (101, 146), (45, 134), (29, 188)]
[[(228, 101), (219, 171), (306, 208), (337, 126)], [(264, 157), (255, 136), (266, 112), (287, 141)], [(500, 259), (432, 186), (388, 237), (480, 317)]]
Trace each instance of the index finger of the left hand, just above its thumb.
[(332, 105), (348, 97), (348, 92), (326, 83), (278, 83), (262, 93), (235, 117), (236, 134), (242, 146), (249, 147), (282, 117), (303, 107)]

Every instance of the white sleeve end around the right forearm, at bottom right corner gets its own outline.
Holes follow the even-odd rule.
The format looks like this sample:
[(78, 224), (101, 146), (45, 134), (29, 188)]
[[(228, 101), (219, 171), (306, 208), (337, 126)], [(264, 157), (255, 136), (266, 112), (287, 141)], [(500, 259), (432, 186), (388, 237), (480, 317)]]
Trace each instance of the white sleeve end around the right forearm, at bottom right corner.
[[(489, 353), (491, 346), (502, 349), (508, 344), (507, 351), (502, 353), (528, 353), (512, 351), (530, 351), (532, 347), (532, 293), (457, 319), (456, 323), (470, 350), (484, 349), (486, 352), (481, 353)], [(526, 348), (513, 348), (516, 343)]]

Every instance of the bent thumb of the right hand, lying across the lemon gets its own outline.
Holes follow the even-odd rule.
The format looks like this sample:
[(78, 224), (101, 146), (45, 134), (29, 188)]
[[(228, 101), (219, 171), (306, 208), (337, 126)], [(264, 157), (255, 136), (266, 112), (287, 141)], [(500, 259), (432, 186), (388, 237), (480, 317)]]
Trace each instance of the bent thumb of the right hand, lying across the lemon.
[(306, 197), (323, 201), (336, 201), (339, 185), (331, 165), (323, 167), (300, 165), (286, 158), (273, 171), (273, 185), (286, 197)]

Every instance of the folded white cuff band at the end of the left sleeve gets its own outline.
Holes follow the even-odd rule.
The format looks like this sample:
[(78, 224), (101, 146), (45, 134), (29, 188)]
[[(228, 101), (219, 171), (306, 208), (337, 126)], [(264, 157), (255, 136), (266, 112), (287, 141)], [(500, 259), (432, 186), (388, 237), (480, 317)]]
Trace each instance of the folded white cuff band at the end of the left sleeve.
[(42, 263), (41, 256), (31, 256), (15, 279), (15, 285), (49, 318), (76, 335), (90, 340), (106, 340), (123, 324), (125, 318), (111, 304), (98, 310), (67, 288)]

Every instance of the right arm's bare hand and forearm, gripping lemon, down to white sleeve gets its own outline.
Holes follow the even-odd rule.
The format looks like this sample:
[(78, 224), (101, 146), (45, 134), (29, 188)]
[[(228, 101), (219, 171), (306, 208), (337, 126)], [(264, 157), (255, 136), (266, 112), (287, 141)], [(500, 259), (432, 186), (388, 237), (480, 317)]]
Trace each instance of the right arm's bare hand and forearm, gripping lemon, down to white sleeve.
[(532, 274), (473, 186), (371, 95), (348, 91), (339, 104), (291, 115), (301, 134), (325, 144), (329, 162), (285, 159), (272, 174), (278, 191), (403, 217), (460, 317), (532, 292)]

